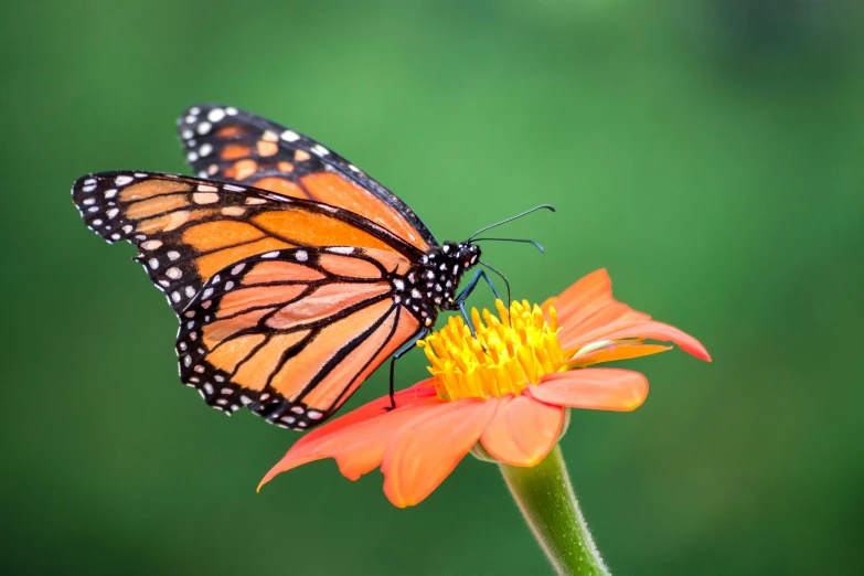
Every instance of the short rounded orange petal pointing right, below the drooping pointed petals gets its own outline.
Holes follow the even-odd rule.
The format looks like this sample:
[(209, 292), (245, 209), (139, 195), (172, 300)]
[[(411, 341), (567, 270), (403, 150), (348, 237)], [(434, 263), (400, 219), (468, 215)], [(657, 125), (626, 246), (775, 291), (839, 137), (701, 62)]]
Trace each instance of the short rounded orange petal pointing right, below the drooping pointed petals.
[(629, 412), (648, 396), (648, 380), (631, 370), (580, 369), (548, 374), (527, 391), (538, 401), (556, 406)]

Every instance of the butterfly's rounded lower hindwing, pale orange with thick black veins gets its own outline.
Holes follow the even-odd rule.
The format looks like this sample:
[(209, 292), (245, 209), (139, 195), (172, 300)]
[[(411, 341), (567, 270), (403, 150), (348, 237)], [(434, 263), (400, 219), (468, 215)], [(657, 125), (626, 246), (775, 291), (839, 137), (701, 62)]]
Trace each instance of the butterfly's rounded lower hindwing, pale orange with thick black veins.
[(420, 330), (394, 282), (410, 260), (358, 247), (278, 249), (214, 275), (183, 312), (183, 382), (227, 414), (282, 427), (329, 417)]

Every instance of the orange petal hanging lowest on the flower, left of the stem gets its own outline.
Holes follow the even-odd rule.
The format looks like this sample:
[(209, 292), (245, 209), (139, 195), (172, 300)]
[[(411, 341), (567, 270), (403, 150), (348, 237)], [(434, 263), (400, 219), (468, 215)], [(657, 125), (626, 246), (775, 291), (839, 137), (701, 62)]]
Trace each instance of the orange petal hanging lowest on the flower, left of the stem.
[(497, 398), (462, 398), (436, 406), (399, 429), (381, 471), (384, 493), (399, 508), (414, 505), (438, 488), (495, 414)]

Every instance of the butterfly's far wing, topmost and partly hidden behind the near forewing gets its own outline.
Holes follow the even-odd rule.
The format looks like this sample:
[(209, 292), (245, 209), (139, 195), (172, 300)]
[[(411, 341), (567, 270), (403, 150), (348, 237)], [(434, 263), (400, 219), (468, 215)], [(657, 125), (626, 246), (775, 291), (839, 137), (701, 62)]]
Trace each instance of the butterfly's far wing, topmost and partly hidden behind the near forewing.
[(395, 194), (329, 148), (231, 106), (193, 106), (178, 121), (186, 160), (216, 178), (360, 214), (420, 250), (438, 243)]

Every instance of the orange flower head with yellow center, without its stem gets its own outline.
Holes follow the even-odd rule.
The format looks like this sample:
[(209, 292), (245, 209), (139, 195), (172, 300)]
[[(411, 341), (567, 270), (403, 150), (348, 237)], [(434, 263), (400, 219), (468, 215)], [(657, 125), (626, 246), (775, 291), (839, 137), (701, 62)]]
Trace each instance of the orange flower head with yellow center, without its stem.
[(297, 441), (267, 472), (333, 458), (356, 480), (381, 467), (395, 505), (420, 502), (476, 446), (512, 466), (540, 462), (558, 440), (567, 408), (632, 410), (648, 381), (633, 371), (588, 367), (670, 350), (706, 361), (693, 337), (612, 298), (606, 270), (582, 278), (543, 306), (497, 302), (500, 318), (472, 310), (471, 335), (460, 317), (419, 342), (433, 377), (362, 406)]

